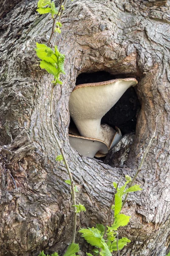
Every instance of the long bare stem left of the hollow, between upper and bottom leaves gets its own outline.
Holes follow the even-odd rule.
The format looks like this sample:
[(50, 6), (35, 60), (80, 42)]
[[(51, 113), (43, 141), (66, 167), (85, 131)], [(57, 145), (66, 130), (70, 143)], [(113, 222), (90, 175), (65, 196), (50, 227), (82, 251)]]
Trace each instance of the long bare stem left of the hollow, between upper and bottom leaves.
[[(73, 177), (71, 175), (71, 171), (70, 171), (70, 168), (68, 166), (68, 162), (65, 158), (65, 154), (64, 154), (64, 151), (63, 151), (63, 148), (56, 136), (56, 133), (55, 133), (55, 130), (54, 130), (54, 122), (53, 122), (53, 94), (54, 94), (54, 87), (55, 85), (53, 84), (52, 87), (51, 87), (51, 99), (50, 99), (50, 121), (51, 121), (51, 128), (52, 128), (52, 132), (53, 132), (53, 135), (54, 135), (54, 138), (57, 142), (57, 145), (59, 147), (59, 150), (62, 154), (62, 158), (64, 160), (64, 163), (65, 163), (65, 167), (68, 171), (68, 175), (69, 175), (69, 178), (70, 178), (70, 181), (71, 181), (71, 192), (72, 192), (72, 199), (73, 199), (73, 205), (76, 205), (76, 195), (75, 195), (75, 190), (74, 190), (74, 181), (73, 181)], [(74, 224), (73, 224), (73, 234), (72, 234), (72, 243), (75, 242), (75, 237), (76, 237), (76, 226), (77, 226), (77, 214), (76, 214), (76, 207), (74, 206), (73, 207), (73, 210), (74, 210)]]

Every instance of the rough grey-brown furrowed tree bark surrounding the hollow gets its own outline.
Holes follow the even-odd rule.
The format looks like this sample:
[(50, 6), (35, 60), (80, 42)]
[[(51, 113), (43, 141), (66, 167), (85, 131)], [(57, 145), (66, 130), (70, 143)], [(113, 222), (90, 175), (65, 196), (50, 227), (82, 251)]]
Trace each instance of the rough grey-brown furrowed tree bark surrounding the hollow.
[[(51, 134), (51, 76), (40, 70), (35, 42), (48, 41), (52, 20), (36, 13), (35, 0), (0, 6), (0, 255), (62, 252), (71, 241), (71, 194)], [(170, 12), (162, 0), (68, 1), (56, 44), (66, 56), (63, 84), (55, 90), (55, 128), (87, 211), (79, 227), (105, 223), (111, 182), (133, 176), (158, 118), (156, 140), (130, 196), (132, 217), (120, 231), (132, 242), (121, 256), (165, 256), (170, 243)], [(124, 167), (81, 157), (68, 143), (69, 95), (80, 73), (105, 70), (135, 77), (141, 111)], [(12, 141), (11, 141), (12, 140)], [(12, 176), (11, 176), (12, 175)], [(17, 189), (15, 188), (16, 183)], [(122, 181), (123, 182), (123, 181)], [(77, 235), (82, 252), (88, 250)], [(83, 254), (83, 253), (82, 253)]]

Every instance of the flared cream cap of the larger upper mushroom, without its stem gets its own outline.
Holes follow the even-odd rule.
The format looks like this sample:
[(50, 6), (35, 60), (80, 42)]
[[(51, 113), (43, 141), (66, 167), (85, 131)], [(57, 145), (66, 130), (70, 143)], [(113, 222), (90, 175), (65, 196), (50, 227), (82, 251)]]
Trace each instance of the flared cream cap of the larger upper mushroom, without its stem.
[[(125, 91), (137, 84), (135, 78), (79, 84), (70, 95), (69, 111), (76, 123), (82, 119), (101, 119)], [(79, 131), (81, 134), (81, 131)]]

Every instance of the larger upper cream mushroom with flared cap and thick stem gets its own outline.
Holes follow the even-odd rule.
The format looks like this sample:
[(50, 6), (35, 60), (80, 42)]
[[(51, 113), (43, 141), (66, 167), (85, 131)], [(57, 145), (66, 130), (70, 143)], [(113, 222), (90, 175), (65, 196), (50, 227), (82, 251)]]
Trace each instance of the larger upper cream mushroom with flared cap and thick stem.
[(103, 141), (111, 148), (115, 131), (101, 125), (101, 119), (137, 83), (135, 78), (125, 78), (76, 86), (70, 95), (69, 111), (80, 135)]

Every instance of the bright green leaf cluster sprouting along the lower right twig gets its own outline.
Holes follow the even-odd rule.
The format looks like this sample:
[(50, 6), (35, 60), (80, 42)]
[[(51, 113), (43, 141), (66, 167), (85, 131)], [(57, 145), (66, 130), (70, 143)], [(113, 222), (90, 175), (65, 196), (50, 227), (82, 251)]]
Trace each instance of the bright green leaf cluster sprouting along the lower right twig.
[[(126, 176), (126, 182), (123, 186), (118, 188), (117, 183), (113, 182), (113, 186), (116, 189), (115, 194), (115, 205), (112, 206), (114, 210), (114, 218), (113, 224), (111, 226), (107, 226), (107, 233), (105, 236), (105, 227), (102, 224), (97, 224), (96, 228), (87, 228), (79, 230), (82, 233), (82, 237), (91, 244), (95, 246), (97, 250), (94, 250), (94, 255), (98, 255), (100, 253), (101, 256), (111, 256), (113, 251), (121, 250), (127, 243), (130, 242), (126, 237), (122, 237), (121, 239), (117, 238), (117, 229), (119, 227), (126, 226), (129, 222), (130, 216), (121, 214), (122, 210), (122, 202), (123, 196), (130, 192), (135, 192), (142, 190), (139, 185), (134, 185), (126, 188), (127, 184), (131, 182), (131, 178)], [(92, 256), (91, 253), (87, 253), (88, 256)]]

